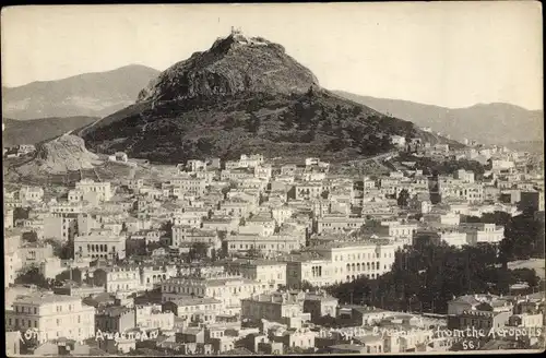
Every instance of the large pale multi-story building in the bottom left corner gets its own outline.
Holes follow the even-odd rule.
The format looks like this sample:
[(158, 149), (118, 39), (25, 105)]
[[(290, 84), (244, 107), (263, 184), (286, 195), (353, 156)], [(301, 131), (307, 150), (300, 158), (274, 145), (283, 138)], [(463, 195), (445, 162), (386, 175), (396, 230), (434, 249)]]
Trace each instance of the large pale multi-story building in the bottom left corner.
[(20, 296), (13, 302), (13, 311), (7, 312), (5, 322), (11, 329), (34, 330), (38, 342), (60, 337), (83, 341), (95, 336), (95, 308), (73, 296)]

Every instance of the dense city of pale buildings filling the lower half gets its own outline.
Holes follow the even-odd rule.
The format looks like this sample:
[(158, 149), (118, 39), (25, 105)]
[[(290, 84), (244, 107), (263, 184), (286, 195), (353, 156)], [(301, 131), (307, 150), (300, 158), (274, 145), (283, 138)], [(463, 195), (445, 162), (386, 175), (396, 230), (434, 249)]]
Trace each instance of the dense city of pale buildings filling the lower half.
[[(543, 172), (529, 169), (524, 153), (392, 142), (486, 170), (479, 179), (464, 169), (430, 176), (402, 162), (388, 175), (351, 176), (320, 158), (278, 165), (250, 154), (188, 160), (170, 177), (82, 178), (60, 198), (4, 189), (8, 353), (442, 351), (471, 337), (453, 332), (491, 327), (526, 332), (505, 336), (507, 345), (535, 344), (543, 294), (467, 295), (440, 315), (325, 293), (389, 273), (417, 238), (458, 248), (503, 239), (505, 227), (465, 216), (544, 213)], [(130, 162), (123, 153), (109, 159)], [(28, 272), (50, 287), (17, 284)]]

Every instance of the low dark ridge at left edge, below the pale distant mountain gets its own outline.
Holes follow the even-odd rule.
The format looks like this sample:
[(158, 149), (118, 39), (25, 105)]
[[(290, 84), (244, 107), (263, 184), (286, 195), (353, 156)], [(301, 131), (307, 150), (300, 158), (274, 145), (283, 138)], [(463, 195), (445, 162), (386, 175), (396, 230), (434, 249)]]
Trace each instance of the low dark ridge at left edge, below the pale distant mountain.
[(2, 145), (10, 147), (20, 144), (36, 144), (51, 140), (63, 133), (96, 121), (97, 117), (41, 118), (14, 120), (4, 118)]

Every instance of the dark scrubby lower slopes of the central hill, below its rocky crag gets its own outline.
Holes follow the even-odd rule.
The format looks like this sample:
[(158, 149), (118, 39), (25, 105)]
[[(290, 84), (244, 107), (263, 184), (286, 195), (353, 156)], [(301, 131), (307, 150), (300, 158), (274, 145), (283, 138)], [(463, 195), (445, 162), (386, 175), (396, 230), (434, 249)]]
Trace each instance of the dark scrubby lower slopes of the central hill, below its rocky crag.
[(132, 157), (171, 164), (242, 153), (370, 156), (391, 151), (392, 134), (425, 135), (411, 122), (322, 90), (141, 103), (80, 132), (87, 147), (98, 153), (126, 151)]

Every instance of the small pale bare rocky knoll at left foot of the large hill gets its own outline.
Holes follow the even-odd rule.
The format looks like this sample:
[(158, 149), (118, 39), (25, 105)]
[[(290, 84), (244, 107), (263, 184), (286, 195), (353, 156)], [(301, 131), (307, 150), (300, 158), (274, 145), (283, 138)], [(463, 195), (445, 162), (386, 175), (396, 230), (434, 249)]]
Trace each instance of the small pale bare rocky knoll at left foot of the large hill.
[(81, 138), (66, 134), (38, 144), (34, 157), (19, 166), (16, 171), (22, 176), (66, 174), (92, 169), (100, 163), (96, 154), (85, 148)]

